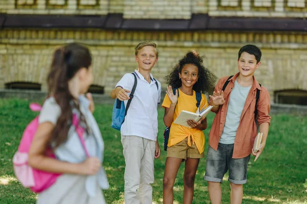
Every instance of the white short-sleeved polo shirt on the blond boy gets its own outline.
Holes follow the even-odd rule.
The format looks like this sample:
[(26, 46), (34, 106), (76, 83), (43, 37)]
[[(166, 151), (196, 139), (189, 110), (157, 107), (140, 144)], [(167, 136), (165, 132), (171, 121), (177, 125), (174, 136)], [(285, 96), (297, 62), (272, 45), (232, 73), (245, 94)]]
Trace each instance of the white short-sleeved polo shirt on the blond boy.
[[(148, 83), (140, 72), (135, 70), (135, 73), (138, 80), (137, 88), (120, 132), (124, 136), (139, 136), (156, 141), (158, 135), (157, 107), (161, 100), (161, 83), (157, 81), (157, 89), (156, 81), (151, 74), (151, 82)], [(126, 73), (116, 87), (120, 86), (131, 91), (134, 80), (133, 74)], [(128, 100), (124, 101), (125, 107), (127, 102)]]

